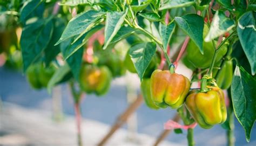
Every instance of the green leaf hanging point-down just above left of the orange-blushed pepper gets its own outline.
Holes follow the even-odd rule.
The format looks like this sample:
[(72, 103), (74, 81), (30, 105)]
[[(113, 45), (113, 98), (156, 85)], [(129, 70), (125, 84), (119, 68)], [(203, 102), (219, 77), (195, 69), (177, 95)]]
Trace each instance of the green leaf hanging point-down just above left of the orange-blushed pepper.
[(154, 53), (156, 53), (156, 44), (150, 42), (136, 44), (130, 48), (129, 54), (140, 80), (142, 80), (143, 74), (147, 66), (149, 66)]

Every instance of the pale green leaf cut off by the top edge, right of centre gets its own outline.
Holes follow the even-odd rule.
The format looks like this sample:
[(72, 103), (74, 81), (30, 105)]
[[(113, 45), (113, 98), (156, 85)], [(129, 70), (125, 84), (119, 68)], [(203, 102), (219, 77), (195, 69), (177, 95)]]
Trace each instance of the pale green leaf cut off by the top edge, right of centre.
[(194, 0), (168, 0), (166, 1), (166, 3), (163, 4), (163, 6), (161, 6), (161, 8), (159, 8), (159, 10), (191, 6), (194, 3)]

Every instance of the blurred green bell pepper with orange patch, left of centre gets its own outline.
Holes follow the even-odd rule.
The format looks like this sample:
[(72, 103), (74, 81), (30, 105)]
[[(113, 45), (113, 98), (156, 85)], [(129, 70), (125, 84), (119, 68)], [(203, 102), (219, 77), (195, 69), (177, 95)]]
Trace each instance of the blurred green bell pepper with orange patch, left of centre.
[(85, 65), (80, 72), (80, 86), (86, 93), (105, 94), (111, 84), (111, 71), (106, 66)]

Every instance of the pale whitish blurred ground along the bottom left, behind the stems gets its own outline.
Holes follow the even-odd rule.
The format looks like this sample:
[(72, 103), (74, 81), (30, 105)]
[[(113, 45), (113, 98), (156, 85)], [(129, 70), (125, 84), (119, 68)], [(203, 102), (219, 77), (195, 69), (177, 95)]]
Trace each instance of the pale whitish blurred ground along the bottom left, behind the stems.
[[(77, 145), (75, 121), (71, 116), (56, 122), (49, 112), (3, 103), (0, 117), (0, 145)], [(82, 125), (84, 145), (97, 145), (110, 128), (88, 119), (83, 119)], [(136, 134), (133, 140), (128, 135), (127, 130), (119, 129), (106, 145), (152, 145), (155, 140), (146, 134)]]

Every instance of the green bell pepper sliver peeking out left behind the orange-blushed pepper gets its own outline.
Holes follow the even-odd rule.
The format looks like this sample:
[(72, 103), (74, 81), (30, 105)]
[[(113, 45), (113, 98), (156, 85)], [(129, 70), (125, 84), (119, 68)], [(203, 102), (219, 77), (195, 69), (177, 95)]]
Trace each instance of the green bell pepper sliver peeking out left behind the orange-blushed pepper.
[(150, 93), (150, 79), (149, 78), (145, 78), (142, 80), (142, 84), (140, 85), (140, 89), (142, 91), (142, 95), (144, 98), (144, 101), (147, 105), (147, 107), (152, 108), (152, 109), (159, 109), (159, 107), (157, 107), (153, 100), (151, 99), (151, 93)]

